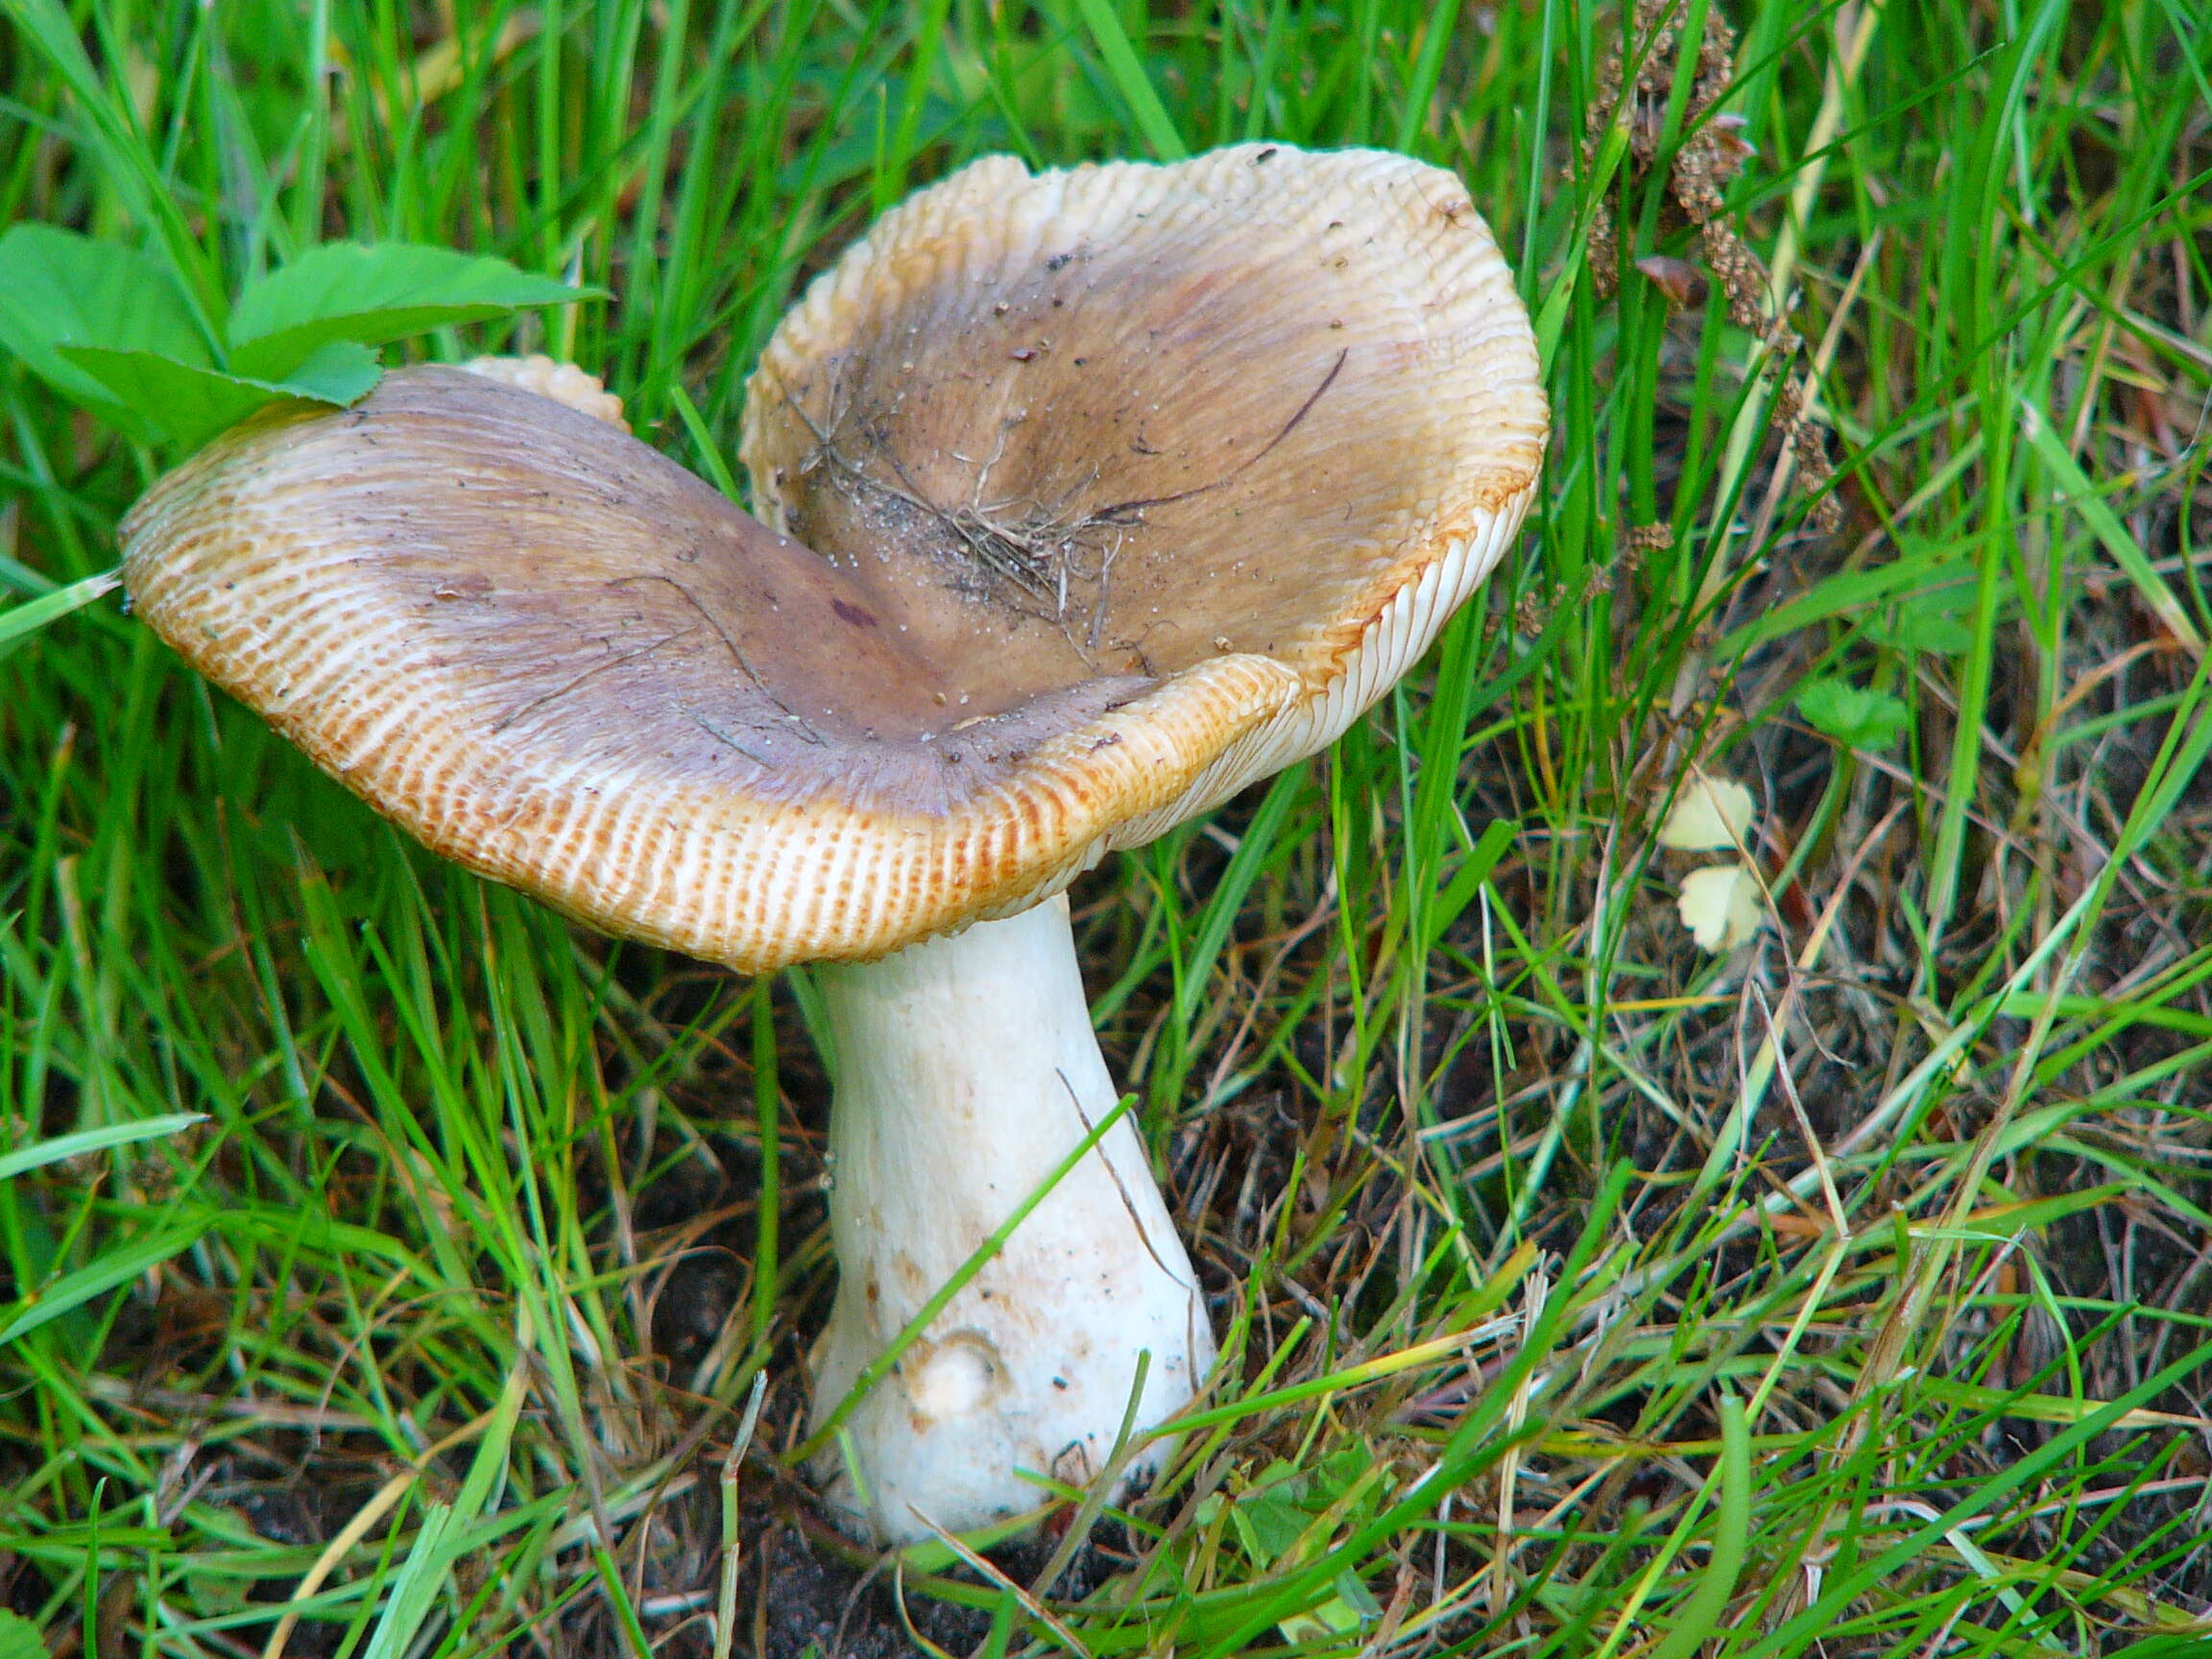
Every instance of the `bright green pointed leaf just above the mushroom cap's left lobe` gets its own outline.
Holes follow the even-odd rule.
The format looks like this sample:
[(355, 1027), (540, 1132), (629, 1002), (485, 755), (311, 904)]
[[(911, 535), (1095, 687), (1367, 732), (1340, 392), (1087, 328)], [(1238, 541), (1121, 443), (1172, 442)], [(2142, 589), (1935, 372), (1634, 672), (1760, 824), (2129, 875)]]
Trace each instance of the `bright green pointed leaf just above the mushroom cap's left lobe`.
[(281, 378), (332, 341), (383, 345), (597, 292), (451, 248), (334, 241), (246, 290), (230, 312), (230, 367)]

